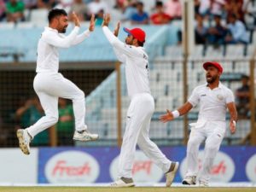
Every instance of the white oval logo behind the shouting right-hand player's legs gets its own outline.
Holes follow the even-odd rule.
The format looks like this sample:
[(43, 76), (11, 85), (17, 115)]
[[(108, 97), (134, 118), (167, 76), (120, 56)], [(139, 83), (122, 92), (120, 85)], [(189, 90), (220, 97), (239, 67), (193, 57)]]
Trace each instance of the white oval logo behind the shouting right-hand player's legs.
[[(203, 163), (204, 152), (200, 151), (198, 157), (199, 157), (198, 166), (199, 166), (199, 177), (200, 177), (200, 171)], [(185, 177), (186, 171), (187, 171), (187, 160), (186, 158), (184, 158), (180, 166), (180, 174), (182, 177)], [(218, 151), (218, 154), (216, 155), (213, 161), (213, 166), (211, 170), (211, 181), (226, 182), (226, 183), (230, 182), (230, 180), (234, 176), (234, 173), (235, 173), (234, 161), (230, 158), (228, 154), (224, 154), (223, 152)]]

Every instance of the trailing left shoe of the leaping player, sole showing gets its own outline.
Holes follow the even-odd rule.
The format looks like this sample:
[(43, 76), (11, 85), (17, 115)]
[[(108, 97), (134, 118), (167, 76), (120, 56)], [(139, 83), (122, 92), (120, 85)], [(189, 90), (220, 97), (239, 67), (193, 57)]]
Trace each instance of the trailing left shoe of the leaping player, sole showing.
[(31, 142), (31, 137), (28, 135), (28, 132), (23, 129), (16, 131), (17, 137), (19, 139), (19, 146), (23, 154), (30, 154), (29, 143)]

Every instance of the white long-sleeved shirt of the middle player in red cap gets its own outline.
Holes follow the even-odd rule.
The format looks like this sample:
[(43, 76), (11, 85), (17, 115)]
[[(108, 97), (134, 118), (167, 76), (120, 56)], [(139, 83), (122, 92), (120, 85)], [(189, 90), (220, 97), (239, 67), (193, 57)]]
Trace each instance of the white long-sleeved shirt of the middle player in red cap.
[(113, 45), (114, 52), (119, 61), (125, 63), (125, 78), (128, 96), (132, 98), (140, 93), (150, 94), (148, 81), (148, 55), (146, 54), (145, 49), (143, 47), (124, 44), (110, 32), (108, 26), (103, 26), (102, 29), (110, 44)]

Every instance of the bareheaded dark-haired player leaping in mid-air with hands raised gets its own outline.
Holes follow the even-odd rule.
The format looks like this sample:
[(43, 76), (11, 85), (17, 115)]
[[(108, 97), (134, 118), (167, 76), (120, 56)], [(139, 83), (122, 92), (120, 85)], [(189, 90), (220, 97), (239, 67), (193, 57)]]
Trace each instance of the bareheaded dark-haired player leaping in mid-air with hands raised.
[(78, 16), (73, 13), (74, 28), (69, 35), (66, 32), (67, 13), (64, 9), (52, 9), (49, 11), (49, 26), (46, 26), (41, 38), (38, 41), (38, 60), (37, 75), (33, 82), (33, 88), (36, 91), (45, 116), (38, 122), (25, 130), (19, 129), (17, 137), (19, 139), (20, 149), (24, 154), (30, 154), (29, 144), (32, 138), (39, 132), (44, 131), (58, 121), (58, 99), (59, 97), (71, 99), (73, 101), (73, 112), (75, 118), (74, 140), (90, 141), (98, 138), (97, 134), (91, 134), (87, 125), (84, 124), (85, 101), (84, 92), (80, 90), (73, 82), (65, 79), (59, 70), (59, 52), (60, 48), (69, 48), (79, 44), (89, 37), (90, 32), (94, 31), (95, 19), (91, 16), (89, 29), (79, 34), (80, 23)]

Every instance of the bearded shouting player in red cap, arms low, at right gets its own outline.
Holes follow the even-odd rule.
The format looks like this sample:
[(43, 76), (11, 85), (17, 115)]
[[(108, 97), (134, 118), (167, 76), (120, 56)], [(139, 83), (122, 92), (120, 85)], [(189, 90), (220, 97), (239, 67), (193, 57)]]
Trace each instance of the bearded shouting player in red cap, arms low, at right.
[(205, 155), (201, 176), (198, 180), (200, 186), (207, 187), (213, 160), (226, 131), (226, 108), (230, 112), (230, 132), (232, 134), (236, 131), (237, 113), (232, 91), (219, 81), (223, 67), (214, 61), (204, 63), (203, 67), (206, 70), (207, 84), (195, 87), (188, 102), (172, 112), (167, 110), (166, 114), (160, 116), (160, 120), (166, 123), (188, 113), (196, 105), (200, 105), (197, 122), (190, 124), (191, 132), (187, 147), (188, 170), (183, 184), (196, 183), (199, 146), (205, 141)]

